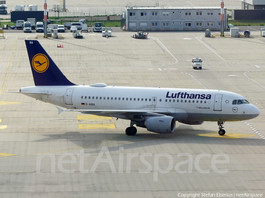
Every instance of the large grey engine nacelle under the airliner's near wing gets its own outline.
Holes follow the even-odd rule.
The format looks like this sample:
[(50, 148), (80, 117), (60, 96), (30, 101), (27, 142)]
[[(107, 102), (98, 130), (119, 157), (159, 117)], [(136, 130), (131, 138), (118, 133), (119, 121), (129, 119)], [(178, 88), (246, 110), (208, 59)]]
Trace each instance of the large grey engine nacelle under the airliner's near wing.
[(176, 120), (171, 116), (148, 117), (144, 122), (137, 122), (136, 126), (154, 133), (172, 133), (175, 130)]

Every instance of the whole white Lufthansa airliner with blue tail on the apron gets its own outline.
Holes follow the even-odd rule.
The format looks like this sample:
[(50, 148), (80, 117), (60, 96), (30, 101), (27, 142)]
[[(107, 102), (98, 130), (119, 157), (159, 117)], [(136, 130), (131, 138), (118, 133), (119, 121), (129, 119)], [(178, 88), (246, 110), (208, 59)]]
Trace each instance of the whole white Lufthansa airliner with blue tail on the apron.
[(155, 133), (172, 133), (176, 121), (189, 125), (215, 121), (219, 135), (224, 135), (225, 121), (253, 119), (260, 112), (243, 96), (221, 90), (76, 85), (63, 75), (37, 40), (25, 42), (35, 86), (15, 93), (67, 108), (57, 107), (59, 113), (80, 111), (130, 120), (125, 130), (129, 136), (137, 132), (134, 125)]

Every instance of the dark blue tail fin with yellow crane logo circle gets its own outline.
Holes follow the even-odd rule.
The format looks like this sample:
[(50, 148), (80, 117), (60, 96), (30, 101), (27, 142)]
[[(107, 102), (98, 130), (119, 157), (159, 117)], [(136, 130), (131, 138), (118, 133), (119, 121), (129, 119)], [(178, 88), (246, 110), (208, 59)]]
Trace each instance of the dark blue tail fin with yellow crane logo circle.
[(76, 85), (70, 82), (37, 40), (25, 40), (35, 86)]

